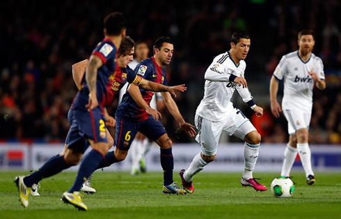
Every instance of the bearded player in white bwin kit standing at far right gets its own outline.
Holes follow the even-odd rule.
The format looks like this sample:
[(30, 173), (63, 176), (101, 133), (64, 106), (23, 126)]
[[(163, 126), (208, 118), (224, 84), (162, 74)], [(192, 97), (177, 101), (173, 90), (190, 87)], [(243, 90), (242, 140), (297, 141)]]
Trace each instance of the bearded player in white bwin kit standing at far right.
[[(312, 54), (315, 45), (314, 32), (299, 32), (299, 50), (283, 56), (270, 82), (270, 102), (273, 116), (278, 118), (283, 111), (287, 119), (289, 142), (284, 152), (281, 176), (290, 176), (297, 152), (306, 172), (308, 185), (315, 184), (310, 161), (308, 128), (312, 112), (312, 89), (326, 88), (322, 60)], [(277, 102), (278, 81), (284, 80), (282, 109)]]

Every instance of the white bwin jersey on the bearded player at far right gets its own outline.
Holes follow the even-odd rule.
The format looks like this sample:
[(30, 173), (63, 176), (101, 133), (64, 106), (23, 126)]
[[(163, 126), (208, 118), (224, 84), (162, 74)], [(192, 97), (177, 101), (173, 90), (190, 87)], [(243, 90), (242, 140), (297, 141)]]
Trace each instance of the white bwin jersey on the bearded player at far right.
[(324, 80), (322, 60), (311, 54), (308, 61), (303, 62), (299, 57), (299, 51), (286, 54), (280, 59), (273, 76), (277, 80), (284, 79), (284, 96), (282, 107), (284, 110), (299, 109), (304, 112), (312, 110), (312, 89), (314, 80), (309, 72), (315, 72)]

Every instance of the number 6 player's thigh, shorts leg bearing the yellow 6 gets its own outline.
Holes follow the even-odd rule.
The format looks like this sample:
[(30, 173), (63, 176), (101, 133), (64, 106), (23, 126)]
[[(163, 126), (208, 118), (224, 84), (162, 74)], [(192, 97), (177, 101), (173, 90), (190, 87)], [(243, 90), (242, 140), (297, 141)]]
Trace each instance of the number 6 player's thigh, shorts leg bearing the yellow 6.
[(120, 116), (116, 116), (116, 148), (122, 151), (128, 151), (138, 132), (139, 126), (139, 122), (129, 121)]

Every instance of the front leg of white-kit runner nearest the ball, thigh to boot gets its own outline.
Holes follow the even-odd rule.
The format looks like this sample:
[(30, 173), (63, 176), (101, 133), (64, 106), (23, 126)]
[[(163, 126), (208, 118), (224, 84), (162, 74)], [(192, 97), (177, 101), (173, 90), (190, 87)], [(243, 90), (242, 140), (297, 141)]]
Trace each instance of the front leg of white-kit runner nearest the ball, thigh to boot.
[(253, 169), (255, 169), (260, 149), (260, 134), (240, 110), (235, 109), (235, 114), (231, 114), (231, 116), (233, 118), (226, 123), (224, 130), (229, 135), (235, 135), (245, 142), (244, 172), (240, 180), (241, 186), (251, 186), (257, 191), (267, 190), (266, 186), (253, 178)]

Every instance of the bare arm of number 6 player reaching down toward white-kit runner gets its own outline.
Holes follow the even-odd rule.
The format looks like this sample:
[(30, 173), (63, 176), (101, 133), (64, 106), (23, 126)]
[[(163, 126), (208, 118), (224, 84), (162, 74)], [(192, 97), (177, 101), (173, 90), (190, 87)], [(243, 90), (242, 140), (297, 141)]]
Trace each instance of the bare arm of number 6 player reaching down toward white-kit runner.
[(172, 96), (170, 96), (170, 93), (162, 92), (161, 95), (164, 98), (164, 103), (167, 109), (169, 110), (170, 114), (172, 114), (172, 116), (179, 123), (180, 128), (182, 128), (185, 131), (185, 133), (189, 135), (190, 137), (194, 137), (194, 135), (196, 135), (196, 130), (194, 129), (194, 126), (184, 121), (184, 118), (180, 114), (180, 111), (177, 108), (177, 105), (175, 101), (173, 100)]

